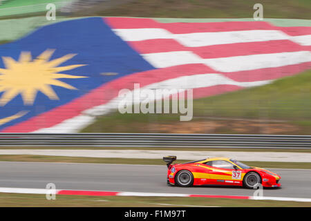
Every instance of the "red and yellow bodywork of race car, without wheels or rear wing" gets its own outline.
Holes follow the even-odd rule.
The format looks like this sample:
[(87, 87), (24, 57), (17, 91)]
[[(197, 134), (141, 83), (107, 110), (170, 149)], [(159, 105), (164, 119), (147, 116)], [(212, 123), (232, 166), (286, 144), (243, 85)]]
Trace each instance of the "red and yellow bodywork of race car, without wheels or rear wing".
[[(225, 160), (234, 164), (236, 169), (223, 169), (219, 167), (209, 166), (206, 163), (213, 160)], [(235, 164), (229, 158), (207, 158), (198, 162), (189, 162), (185, 164), (169, 164), (167, 171), (167, 182), (169, 184), (176, 184), (175, 176), (178, 171), (187, 170), (194, 176), (194, 186), (199, 185), (230, 185), (243, 186), (243, 178), (249, 172), (256, 172), (261, 177), (261, 184), (263, 187), (279, 187), (281, 183), (281, 176), (271, 171), (261, 169), (258, 167), (250, 167), (242, 169), (241, 166)]]

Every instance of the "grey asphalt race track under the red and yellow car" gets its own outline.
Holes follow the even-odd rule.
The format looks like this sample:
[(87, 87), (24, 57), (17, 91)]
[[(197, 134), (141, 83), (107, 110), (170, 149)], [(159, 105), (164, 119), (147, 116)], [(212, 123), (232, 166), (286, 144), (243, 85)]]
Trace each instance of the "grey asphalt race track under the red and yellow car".
[[(189, 193), (208, 195), (253, 195), (242, 187), (167, 186), (166, 166), (122, 164), (66, 164), (0, 162), (0, 187), (46, 188), (148, 193)], [(256, 166), (256, 165), (255, 165)], [(264, 189), (264, 196), (311, 198), (311, 170), (272, 169), (281, 175), (281, 189)]]

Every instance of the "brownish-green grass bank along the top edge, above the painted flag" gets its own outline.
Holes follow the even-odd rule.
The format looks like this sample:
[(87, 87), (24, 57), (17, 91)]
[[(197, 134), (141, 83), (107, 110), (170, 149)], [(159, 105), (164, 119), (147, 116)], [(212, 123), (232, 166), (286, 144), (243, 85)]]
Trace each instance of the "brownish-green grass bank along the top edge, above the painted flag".
[[(256, 0), (117, 0), (97, 4), (74, 15), (164, 18), (251, 18)], [(308, 0), (262, 0), (264, 17), (310, 19)]]

